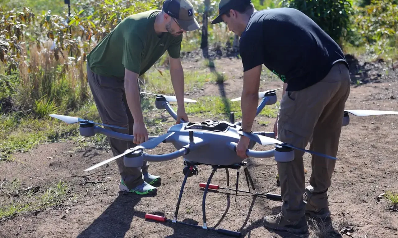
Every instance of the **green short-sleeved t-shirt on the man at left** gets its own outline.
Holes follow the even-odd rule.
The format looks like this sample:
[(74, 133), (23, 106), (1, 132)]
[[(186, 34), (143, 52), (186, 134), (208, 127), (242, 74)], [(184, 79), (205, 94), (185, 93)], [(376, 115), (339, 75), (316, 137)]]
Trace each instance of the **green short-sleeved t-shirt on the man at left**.
[(92, 72), (103, 76), (124, 77), (125, 68), (144, 74), (165, 52), (179, 58), (182, 34), (178, 37), (154, 29), (160, 10), (133, 14), (123, 19), (87, 55)]

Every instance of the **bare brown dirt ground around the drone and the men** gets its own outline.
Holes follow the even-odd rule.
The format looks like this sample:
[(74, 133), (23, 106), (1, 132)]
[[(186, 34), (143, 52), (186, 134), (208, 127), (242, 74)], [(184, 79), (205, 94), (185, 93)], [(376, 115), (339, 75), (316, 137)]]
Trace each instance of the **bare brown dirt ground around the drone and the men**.
[[(195, 62), (196, 61), (196, 62)], [(242, 64), (239, 59), (215, 60), (217, 72), (228, 76), (223, 84), (207, 83), (204, 92), (189, 92), (188, 98), (197, 99), (203, 95), (239, 97), (242, 90)], [(203, 67), (195, 59), (184, 60), (188, 70)], [(383, 62), (354, 67), (353, 82), (346, 109), (398, 110), (397, 70)], [(386, 74), (386, 68), (388, 74)], [(279, 80), (261, 81), (261, 90), (279, 88)], [(188, 89), (189, 91), (189, 89)], [(277, 91), (278, 100), (281, 90)], [(171, 117), (170, 117), (171, 119)], [(199, 122), (207, 118), (193, 118)], [(227, 118), (224, 118), (227, 119)], [(388, 201), (378, 196), (385, 191), (398, 191), (398, 140), (397, 115), (356, 117), (350, 115), (350, 124), (343, 127), (339, 144), (338, 162), (328, 194), (332, 221), (339, 235), (333, 237), (398, 237), (398, 212), (388, 209)], [(172, 120), (169, 120), (172, 121)], [(260, 125), (259, 121), (268, 121)], [(254, 131), (272, 131), (275, 119), (257, 117)], [(166, 131), (166, 127), (164, 127)], [(0, 223), (2, 238), (177, 238), (177, 237), (228, 237), (211, 230), (194, 228), (172, 222), (153, 222), (145, 219), (146, 213), (173, 218), (179, 190), (183, 181), (183, 159), (151, 163), (150, 172), (162, 177), (156, 196), (119, 194), (119, 174), (116, 163), (102, 166), (90, 173), (85, 168), (112, 156), (109, 150), (93, 148), (77, 149), (78, 142), (43, 144), (31, 152), (16, 154), (15, 162), (0, 164), (2, 181), (20, 179), (26, 187), (51, 182), (68, 181), (74, 201), (65, 205), (27, 213)], [(255, 149), (266, 148), (256, 145)], [(171, 144), (160, 144), (149, 150), (151, 154), (174, 151)], [(51, 156), (49, 160), (47, 157)], [(311, 174), (310, 155), (304, 155), (307, 170), (306, 185)], [(257, 191), (280, 194), (275, 176), (276, 162), (272, 159), (249, 158), (248, 169)], [(99, 172), (98, 172), (99, 171)], [(87, 176), (85, 179), (78, 176)], [(199, 183), (206, 182), (211, 173), (210, 166), (199, 166), (199, 175), (188, 178), (185, 185), (178, 220), (192, 224), (203, 224), (203, 189)], [(240, 171), (239, 188), (248, 190), (243, 171)], [(100, 183), (86, 183), (100, 180)], [(236, 170), (230, 170), (230, 185), (236, 181)], [(225, 170), (220, 169), (212, 184), (226, 185)], [(78, 184), (78, 185), (76, 185)], [(207, 225), (242, 232), (243, 237), (298, 237), (287, 232), (269, 231), (262, 224), (265, 215), (280, 211), (281, 202), (238, 193), (235, 202), (234, 191), (210, 191), (206, 200)], [(196, 234), (195, 234), (196, 232)], [(318, 237), (310, 232), (310, 237)], [(308, 237), (300, 236), (300, 237)]]

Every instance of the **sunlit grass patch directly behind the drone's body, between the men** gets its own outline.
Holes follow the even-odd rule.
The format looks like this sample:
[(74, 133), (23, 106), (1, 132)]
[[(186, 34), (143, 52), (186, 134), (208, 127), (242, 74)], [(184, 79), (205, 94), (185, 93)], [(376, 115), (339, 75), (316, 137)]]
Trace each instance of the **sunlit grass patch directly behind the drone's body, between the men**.
[[(217, 96), (199, 98), (196, 103), (186, 105), (185, 111), (188, 115), (202, 115), (218, 120), (228, 120), (230, 112), (234, 112), (235, 121), (238, 121), (238, 118), (242, 117), (240, 101), (230, 101), (229, 99)], [(277, 112), (277, 106), (266, 105), (259, 115), (276, 117)]]

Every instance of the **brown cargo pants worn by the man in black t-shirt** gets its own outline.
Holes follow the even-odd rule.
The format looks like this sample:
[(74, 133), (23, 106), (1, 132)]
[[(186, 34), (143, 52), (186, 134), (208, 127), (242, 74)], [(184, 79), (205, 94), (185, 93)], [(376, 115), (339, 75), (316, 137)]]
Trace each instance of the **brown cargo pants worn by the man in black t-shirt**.
[[(277, 139), (300, 148), (305, 148), (310, 142), (310, 150), (336, 157), (350, 84), (349, 71), (345, 64), (339, 62), (320, 82), (303, 90), (286, 91), (279, 107)], [(293, 161), (277, 163), (282, 213), (288, 219), (304, 216), (303, 154), (295, 150)], [(307, 194), (318, 208), (328, 206), (326, 191), (330, 187), (335, 162), (312, 155), (310, 185), (314, 189)]]

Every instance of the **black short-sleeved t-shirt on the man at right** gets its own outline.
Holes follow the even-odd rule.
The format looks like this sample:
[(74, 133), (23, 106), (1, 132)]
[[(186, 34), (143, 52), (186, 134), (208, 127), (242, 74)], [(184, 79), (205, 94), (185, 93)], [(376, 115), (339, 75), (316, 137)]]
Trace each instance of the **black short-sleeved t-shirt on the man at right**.
[(240, 37), (239, 51), (244, 71), (264, 64), (288, 84), (287, 91), (319, 82), (338, 61), (349, 67), (338, 44), (293, 8), (254, 12)]

